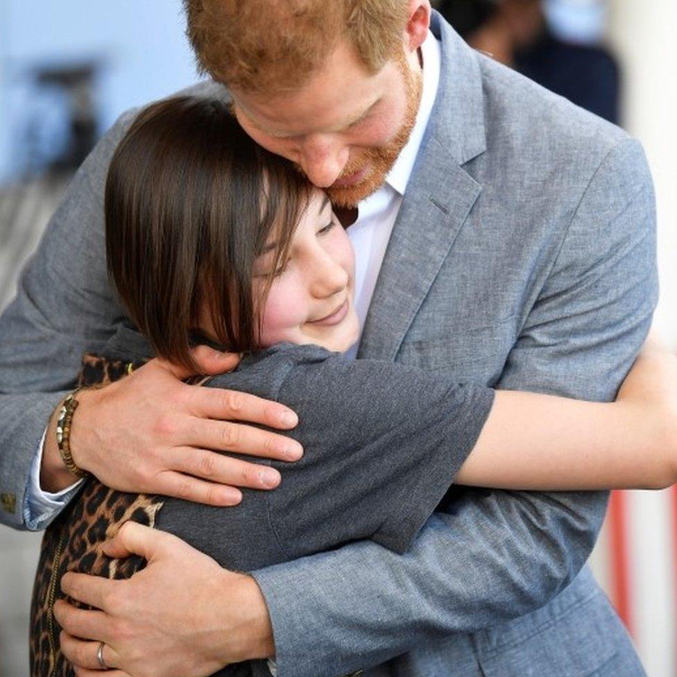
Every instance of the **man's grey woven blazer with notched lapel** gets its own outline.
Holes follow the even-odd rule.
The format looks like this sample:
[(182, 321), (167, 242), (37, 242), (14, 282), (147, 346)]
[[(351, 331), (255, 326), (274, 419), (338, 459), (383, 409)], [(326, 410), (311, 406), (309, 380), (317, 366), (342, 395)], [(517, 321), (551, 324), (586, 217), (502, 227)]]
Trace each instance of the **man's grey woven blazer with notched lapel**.
[[(433, 31), (440, 87), (361, 357), (610, 400), (657, 297), (642, 149), (472, 51), (438, 15)], [(105, 273), (103, 182), (133, 115), (78, 171), (0, 319), (0, 514), (17, 528), (55, 391), (122, 318)], [(458, 490), (404, 556), (361, 541), (255, 572), (278, 674), (642, 674), (584, 566), (606, 499)]]

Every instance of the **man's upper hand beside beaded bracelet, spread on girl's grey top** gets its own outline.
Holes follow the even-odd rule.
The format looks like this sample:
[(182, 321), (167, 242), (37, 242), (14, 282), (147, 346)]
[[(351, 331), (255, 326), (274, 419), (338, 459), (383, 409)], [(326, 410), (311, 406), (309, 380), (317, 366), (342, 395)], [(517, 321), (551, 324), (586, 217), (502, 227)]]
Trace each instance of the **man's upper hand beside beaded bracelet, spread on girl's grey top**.
[[(206, 375), (237, 365), (237, 355), (205, 345), (194, 350)], [(111, 488), (173, 496), (229, 506), (241, 501), (236, 487), (275, 488), (280, 473), (218, 452), (296, 461), (298, 442), (239, 422), (293, 428), (298, 418), (282, 404), (221, 388), (188, 386), (190, 374), (153, 359), (128, 377), (78, 395), (71, 429), (75, 463)], [(54, 417), (55, 418), (55, 417)], [(74, 481), (65, 470), (54, 434), (48, 431), (42, 459), (42, 488), (55, 491)]]

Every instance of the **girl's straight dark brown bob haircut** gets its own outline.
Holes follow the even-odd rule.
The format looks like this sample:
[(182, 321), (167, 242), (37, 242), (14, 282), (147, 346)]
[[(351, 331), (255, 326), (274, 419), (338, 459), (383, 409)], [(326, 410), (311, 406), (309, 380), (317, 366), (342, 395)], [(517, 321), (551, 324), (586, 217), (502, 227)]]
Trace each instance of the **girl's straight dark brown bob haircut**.
[(139, 114), (108, 170), (106, 257), (158, 357), (194, 369), (191, 337), (205, 312), (223, 348), (257, 348), (255, 258), (272, 238), (271, 271), (279, 266), (310, 190), (246, 135), (226, 101), (180, 96)]

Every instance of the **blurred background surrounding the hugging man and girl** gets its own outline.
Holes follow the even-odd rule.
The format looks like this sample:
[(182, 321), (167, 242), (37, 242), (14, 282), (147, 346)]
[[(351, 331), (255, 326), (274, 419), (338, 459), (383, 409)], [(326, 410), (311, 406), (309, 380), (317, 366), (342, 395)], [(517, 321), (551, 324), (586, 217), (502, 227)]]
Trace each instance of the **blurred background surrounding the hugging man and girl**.
[[(677, 350), (677, 3), (438, 0), (470, 44), (630, 131), (658, 197), (661, 302)], [(0, 310), (96, 139), (197, 79), (180, 0), (0, 0)], [(677, 387), (677, 384), (676, 384)], [(40, 535), (0, 527), (0, 677), (28, 674)], [(591, 560), (650, 677), (677, 677), (677, 489), (615, 492)]]

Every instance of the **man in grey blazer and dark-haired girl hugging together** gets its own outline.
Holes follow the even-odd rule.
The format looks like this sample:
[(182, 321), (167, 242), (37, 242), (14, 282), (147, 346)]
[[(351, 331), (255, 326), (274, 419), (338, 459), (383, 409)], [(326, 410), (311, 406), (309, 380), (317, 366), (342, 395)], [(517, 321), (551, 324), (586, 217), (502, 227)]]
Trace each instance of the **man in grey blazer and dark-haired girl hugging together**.
[(33, 674), (643, 674), (585, 567), (677, 479), (641, 148), (427, 2), (186, 6), (228, 89), (121, 118), (0, 320)]

